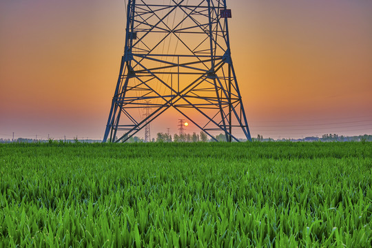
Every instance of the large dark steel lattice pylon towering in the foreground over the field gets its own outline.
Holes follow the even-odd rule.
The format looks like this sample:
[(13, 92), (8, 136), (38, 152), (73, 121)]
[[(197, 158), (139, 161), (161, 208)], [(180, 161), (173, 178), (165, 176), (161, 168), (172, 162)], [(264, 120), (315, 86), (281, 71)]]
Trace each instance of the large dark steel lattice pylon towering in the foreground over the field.
[[(238, 141), (233, 130), (251, 141), (231, 60), (226, 0), (165, 2), (128, 2), (125, 50), (103, 142), (127, 141), (169, 108), (215, 141), (216, 131)], [(145, 106), (151, 114), (138, 116)]]

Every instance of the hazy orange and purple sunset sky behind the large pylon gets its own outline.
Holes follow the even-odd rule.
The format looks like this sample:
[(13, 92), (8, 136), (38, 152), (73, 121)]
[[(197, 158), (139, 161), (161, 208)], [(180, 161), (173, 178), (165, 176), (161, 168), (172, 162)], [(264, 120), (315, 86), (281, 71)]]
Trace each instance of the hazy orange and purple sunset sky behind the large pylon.
[[(372, 134), (372, 1), (227, 4), (252, 137)], [(125, 21), (123, 0), (2, 0), (0, 138), (103, 138)]]

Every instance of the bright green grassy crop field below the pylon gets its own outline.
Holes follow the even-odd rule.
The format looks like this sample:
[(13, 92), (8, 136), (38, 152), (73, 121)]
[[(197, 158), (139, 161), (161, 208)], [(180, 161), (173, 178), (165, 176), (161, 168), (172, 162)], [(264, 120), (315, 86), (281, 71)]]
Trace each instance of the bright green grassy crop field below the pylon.
[(372, 143), (0, 145), (0, 247), (371, 247)]

